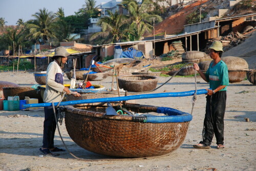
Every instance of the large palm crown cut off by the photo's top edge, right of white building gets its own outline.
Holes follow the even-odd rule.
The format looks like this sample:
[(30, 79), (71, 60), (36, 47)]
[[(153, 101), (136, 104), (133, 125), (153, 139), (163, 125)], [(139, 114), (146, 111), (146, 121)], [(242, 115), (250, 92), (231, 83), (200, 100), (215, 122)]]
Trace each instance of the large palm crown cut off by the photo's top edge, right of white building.
[(128, 32), (133, 35), (134, 40), (140, 40), (145, 33), (150, 33), (153, 29), (150, 24), (152, 20), (162, 21), (159, 15), (148, 14), (148, 9), (152, 2), (144, 0), (141, 5), (136, 0), (124, 0), (122, 5), (126, 8), (131, 15), (131, 25)]

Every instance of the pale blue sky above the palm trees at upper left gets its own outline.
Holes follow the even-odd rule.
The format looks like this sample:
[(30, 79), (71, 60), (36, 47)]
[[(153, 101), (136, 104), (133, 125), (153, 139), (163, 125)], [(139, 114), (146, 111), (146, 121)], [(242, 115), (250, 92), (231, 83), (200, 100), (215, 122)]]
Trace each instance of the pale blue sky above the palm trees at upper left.
[[(96, 0), (96, 5), (110, 0)], [(19, 18), (24, 21), (33, 19), (32, 15), (39, 9), (46, 8), (53, 13), (58, 8), (64, 9), (65, 16), (74, 15), (84, 5), (84, 0), (0, 0), (0, 17), (5, 18), (6, 25), (16, 25)]]

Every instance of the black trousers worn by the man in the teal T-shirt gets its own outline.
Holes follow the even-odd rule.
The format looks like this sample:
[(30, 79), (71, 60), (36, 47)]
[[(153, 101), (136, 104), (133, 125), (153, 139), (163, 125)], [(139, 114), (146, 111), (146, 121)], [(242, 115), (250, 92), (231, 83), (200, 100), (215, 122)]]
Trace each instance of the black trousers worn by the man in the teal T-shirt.
[(203, 141), (210, 145), (216, 137), (217, 144), (224, 144), (224, 114), (226, 109), (226, 91), (218, 91), (206, 96), (206, 112), (204, 117)]

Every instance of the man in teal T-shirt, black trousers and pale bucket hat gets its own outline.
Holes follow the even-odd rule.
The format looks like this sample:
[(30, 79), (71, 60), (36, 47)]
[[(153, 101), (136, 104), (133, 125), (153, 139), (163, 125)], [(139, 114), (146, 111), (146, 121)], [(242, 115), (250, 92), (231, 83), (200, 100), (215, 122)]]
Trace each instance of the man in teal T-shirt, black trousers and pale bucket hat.
[(227, 65), (221, 60), (223, 53), (220, 41), (212, 42), (209, 55), (213, 59), (204, 74), (198, 64), (194, 69), (202, 79), (209, 82), (211, 89), (206, 89), (206, 113), (204, 117), (203, 140), (193, 145), (196, 149), (209, 149), (212, 138), (216, 137), (217, 149), (224, 148), (224, 114), (226, 109), (226, 89), (229, 85)]

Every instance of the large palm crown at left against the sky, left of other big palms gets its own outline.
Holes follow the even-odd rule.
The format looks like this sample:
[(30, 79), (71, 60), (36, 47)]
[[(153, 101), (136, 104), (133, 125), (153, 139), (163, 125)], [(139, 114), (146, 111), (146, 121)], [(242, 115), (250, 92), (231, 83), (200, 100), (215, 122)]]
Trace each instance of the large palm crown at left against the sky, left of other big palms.
[(56, 38), (55, 28), (55, 16), (52, 12), (48, 12), (47, 9), (39, 9), (32, 15), (35, 17), (32, 23), (28, 23), (27, 28), (29, 29), (30, 39), (35, 39), (37, 42), (41, 39), (44, 43), (49, 41), (51, 38)]

